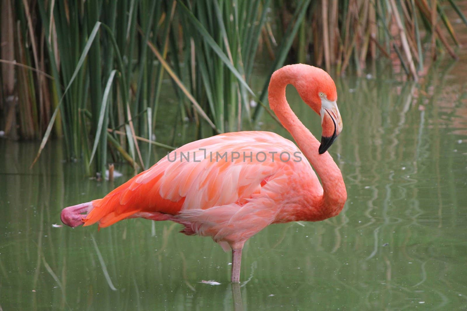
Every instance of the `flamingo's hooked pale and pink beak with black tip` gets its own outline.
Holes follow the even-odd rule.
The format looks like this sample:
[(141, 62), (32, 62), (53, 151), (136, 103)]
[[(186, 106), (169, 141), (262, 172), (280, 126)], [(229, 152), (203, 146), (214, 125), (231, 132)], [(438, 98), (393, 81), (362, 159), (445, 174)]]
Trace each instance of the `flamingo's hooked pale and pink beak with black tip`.
[(330, 102), (325, 99), (323, 99), (321, 105), (320, 115), (323, 132), (318, 152), (319, 154), (323, 154), (331, 147), (334, 140), (342, 131), (342, 119), (340, 118), (336, 102)]

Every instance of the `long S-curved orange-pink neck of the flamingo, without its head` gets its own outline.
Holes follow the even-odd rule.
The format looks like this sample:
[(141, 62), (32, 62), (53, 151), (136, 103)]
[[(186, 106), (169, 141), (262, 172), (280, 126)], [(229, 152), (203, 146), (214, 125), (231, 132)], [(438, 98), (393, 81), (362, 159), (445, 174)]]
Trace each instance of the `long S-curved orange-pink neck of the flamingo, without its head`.
[[(290, 132), (298, 147), (315, 169), (322, 182), (323, 196), (310, 202), (314, 211), (309, 221), (319, 221), (339, 214), (347, 200), (347, 191), (339, 167), (329, 152), (318, 153), (320, 143), (303, 125), (290, 108), (285, 97), (285, 87), (292, 84), (297, 90), (303, 88), (304, 80), (313, 75), (313, 67), (303, 64), (289, 65), (277, 70), (269, 82), (269, 106), (282, 125)], [(306, 86), (313, 88), (313, 85)], [(299, 92), (300, 93), (300, 92)], [(313, 103), (309, 103), (311, 106)], [(314, 107), (312, 107), (314, 108)], [(314, 109), (319, 111), (319, 109)]]

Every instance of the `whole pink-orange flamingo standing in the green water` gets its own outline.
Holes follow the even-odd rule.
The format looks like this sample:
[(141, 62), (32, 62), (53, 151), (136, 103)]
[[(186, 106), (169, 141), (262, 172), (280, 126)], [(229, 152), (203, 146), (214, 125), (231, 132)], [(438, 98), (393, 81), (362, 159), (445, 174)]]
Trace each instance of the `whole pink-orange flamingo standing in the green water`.
[[(288, 84), (321, 117), (321, 143), (290, 109)], [(211, 236), (225, 251), (232, 249), (231, 282), (239, 283), (241, 252), (250, 237), (273, 223), (336, 216), (347, 200), (340, 169), (326, 152), (342, 130), (331, 76), (305, 64), (284, 66), (271, 76), (268, 92), (270, 108), (298, 147), (268, 131), (197, 140), (104, 198), (64, 208), (63, 223), (104, 228), (135, 217), (175, 221), (185, 235)]]

